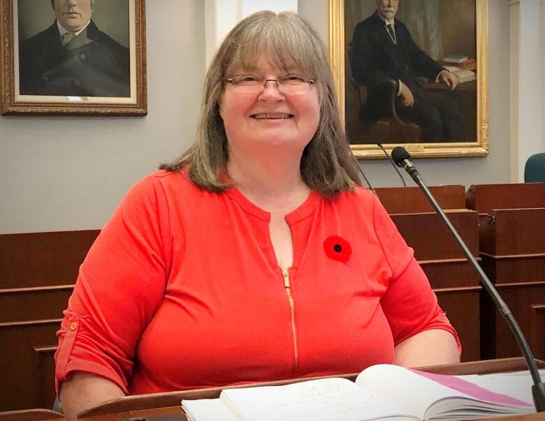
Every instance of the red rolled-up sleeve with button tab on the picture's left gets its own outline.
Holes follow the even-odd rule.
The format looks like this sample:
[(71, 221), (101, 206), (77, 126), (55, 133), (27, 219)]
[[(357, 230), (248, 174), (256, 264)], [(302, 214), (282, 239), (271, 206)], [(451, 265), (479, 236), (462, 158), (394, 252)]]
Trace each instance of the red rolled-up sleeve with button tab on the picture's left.
[(80, 267), (57, 332), (57, 393), (74, 371), (127, 393), (136, 347), (161, 304), (170, 270), (168, 204), (153, 175), (127, 193)]

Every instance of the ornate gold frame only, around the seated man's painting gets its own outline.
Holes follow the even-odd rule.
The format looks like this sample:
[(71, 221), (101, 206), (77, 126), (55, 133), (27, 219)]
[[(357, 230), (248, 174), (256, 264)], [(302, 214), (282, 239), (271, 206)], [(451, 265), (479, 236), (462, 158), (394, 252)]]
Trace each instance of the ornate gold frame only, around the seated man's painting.
[[(347, 75), (351, 74), (348, 61), (349, 40), (345, 36), (348, 31), (354, 31), (354, 27), (345, 27), (345, 6), (349, 1), (371, 1), (375, 0), (329, 0), (329, 47), (330, 60), (333, 68), (333, 77), (335, 88), (337, 90), (340, 106), (340, 116), (344, 128), (347, 128), (347, 108), (345, 101), (347, 96), (345, 92), (351, 80), (347, 80)], [(443, 1), (461, 1), (461, 0), (442, 0)], [(465, 2), (469, 0), (464, 0)], [(451, 157), (451, 156), (483, 156), (489, 152), (488, 141), (488, 0), (474, 1), (475, 10), (475, 50), (476, 63), (475, 73), (477, 81), (474, 81), (476, 99), (475, 116), (475, 139), (467, 142), (436, 142), (436, 143), (413, 143), (403, 142), (402, 140), (392, 139), (392, 142), (382, 142), (386, 151), (389, 153), (396, 146), (403, 146), (415, 157)], [(444, 5), (444, 3), (442, 3)], [(356, 22), (357, 23), (357, 22)], [(348, 84), (347, 84), (348, 83)], [(461, 85), (460, 85), (461, 86)], [(354, 87), (352, 87), (354, 89)], [(356, 88), (357, 89), (357, 88)], [(354, 95), (353, 95), (354, 96)], [(353, 110), (349, 110), (354, 114)], [(354, 120), (350, 121), (354, 124)], [(360, 142), (358, 139), (351, 139), (349, 130), (347, 130), (351, 149), (358, 158), (385, 158), (384, 152), (376, 143)], [(355, 136), (354, 136), (355, 138)], [(364, 140), (362, 138), (362, 140)]]

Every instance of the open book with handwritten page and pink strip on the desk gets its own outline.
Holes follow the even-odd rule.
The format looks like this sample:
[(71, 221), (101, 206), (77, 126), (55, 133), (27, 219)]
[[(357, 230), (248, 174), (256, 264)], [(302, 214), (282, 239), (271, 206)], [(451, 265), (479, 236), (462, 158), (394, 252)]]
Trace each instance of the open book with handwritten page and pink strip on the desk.
[(378, 364), (324, 378), (183, 400), (191, 421), (472, 420), (533, 413), (530, 374), (444, 376)]

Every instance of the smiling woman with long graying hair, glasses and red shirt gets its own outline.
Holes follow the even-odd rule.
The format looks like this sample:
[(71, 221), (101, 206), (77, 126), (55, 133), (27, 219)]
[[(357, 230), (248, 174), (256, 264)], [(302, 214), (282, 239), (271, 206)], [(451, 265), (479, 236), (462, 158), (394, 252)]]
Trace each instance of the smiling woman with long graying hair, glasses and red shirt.
[(59, 331), (68, 418), (124, 394), (458, 361), (384, 208), (358, 186), (326, 49), (293, 13), (221, 44), (195, 144), (138, 182)]

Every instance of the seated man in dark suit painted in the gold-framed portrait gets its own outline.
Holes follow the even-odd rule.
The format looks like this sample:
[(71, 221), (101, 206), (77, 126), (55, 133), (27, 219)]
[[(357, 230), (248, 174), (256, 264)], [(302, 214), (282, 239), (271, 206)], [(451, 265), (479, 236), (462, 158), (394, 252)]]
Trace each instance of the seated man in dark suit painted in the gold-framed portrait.
[[(351, 44), (352, 76), (368, 88), (363, 123), (372, 124), (391, 112), (388, 87), (393, 81), (395, 110), (400, 118), (421, 126), (423, 142), (463, 141), (460, 108), (449, 91), (456, 89), (458, 79), (420, 50), (405, 24), (395, 19), (400, 0), (376, 1), (377, 10), (356, 25)], [(448, 89), (424, 89), (417, 77)]]

